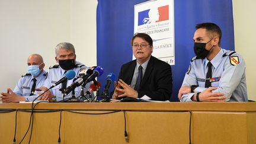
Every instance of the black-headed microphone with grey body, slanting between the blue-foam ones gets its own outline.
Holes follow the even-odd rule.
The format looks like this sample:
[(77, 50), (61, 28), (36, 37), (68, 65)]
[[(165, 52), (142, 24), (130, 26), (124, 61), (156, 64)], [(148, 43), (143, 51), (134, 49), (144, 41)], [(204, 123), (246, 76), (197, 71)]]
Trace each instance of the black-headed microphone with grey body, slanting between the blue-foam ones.
[(68, 88), (66, 88), (64, 95), (65, 96), (68, 95), (73, 89), (82, 85), (82, 83), (85, 81), (85, 79), (88, 79), (88, 77), (92, 75), (92, 72), (93, 71), (91, 69), (88, 69), (86, 74), (85, 74), (85, 71), (79, 72), (79, 78), (76, 79), (71, 85), (69, 85)]

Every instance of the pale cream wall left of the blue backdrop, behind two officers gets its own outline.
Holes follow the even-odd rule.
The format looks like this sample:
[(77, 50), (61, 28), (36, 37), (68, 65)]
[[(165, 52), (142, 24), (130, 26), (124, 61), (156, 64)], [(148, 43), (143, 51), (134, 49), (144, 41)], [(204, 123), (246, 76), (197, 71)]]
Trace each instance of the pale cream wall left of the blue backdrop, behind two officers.
[(97, 1), (1, 0), (0, 91), (14, 89), (32, 53), (43, 56), (46, 71), (55, 65), (62, 41), (73, 43), (80, 62), (96, 65), (96, 7)]

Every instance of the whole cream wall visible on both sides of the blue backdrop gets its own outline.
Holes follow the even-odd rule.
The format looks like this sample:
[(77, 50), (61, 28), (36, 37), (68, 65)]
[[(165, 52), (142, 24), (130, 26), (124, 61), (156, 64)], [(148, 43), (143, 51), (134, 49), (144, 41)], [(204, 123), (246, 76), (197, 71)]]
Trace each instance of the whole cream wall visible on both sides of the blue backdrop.
[[(254, 5), (254, 0), (233, 0), (235, 50), (247, 63), (251, 100), (256, 100)], [(61, 41), (74, 44), (79, 61), (87, 66), (96, 65), (96, 8), (96, 0), (1, 0), (0, 91), (15, 87), (20, 76), (27, 72), (27, 57), (31, 53), (44, 57), (46, 70), (55, 65), (54, 47)]]

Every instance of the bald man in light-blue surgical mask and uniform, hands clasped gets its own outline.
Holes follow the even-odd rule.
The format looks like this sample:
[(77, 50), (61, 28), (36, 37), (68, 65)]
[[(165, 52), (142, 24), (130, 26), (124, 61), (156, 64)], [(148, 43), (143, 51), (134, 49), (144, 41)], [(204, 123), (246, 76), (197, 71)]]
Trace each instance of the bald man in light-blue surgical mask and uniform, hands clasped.
[(7, 92), (1, 92), (0, 98), (3, 103), (19, 103), (20, 101), (33, 101), (37, 97), (35, 91), (44, 85), (47, 73), (44, 71), (43, 57), (38, 54), (28, 56), (28, 73), (21, 76), (18, 84), (14, 88), (7, 89)]

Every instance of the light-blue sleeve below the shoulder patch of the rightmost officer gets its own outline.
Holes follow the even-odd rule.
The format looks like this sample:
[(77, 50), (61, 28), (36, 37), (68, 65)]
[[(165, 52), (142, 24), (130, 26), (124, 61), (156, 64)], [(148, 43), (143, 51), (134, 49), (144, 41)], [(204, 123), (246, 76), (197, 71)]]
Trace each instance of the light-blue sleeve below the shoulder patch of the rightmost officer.
[(219, 81), (219, 87), (212, 92), (222, 92), (226, 97), (226, 101), (229, 101), (233, 91), (238, 87), (242, 75), (245, 72), (245, 62), (241, 56), (238, 56), (239, 63), (232, 65), (231, 60), (226, 59), (224, 71)]

